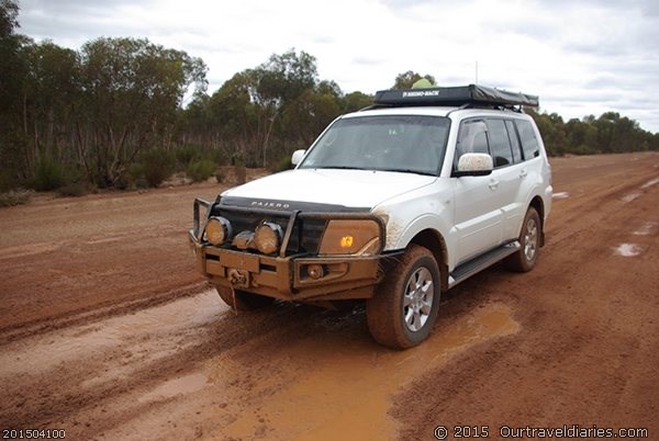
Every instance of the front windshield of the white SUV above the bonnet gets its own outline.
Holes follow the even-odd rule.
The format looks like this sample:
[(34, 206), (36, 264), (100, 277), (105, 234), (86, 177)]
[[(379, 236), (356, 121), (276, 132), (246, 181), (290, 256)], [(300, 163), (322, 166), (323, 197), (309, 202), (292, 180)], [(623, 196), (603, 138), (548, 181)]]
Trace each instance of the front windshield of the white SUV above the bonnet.
[(439, 173), (449, 120), (422, 115), (336, 121), (300, 165), (303, 169), (364, 169)]

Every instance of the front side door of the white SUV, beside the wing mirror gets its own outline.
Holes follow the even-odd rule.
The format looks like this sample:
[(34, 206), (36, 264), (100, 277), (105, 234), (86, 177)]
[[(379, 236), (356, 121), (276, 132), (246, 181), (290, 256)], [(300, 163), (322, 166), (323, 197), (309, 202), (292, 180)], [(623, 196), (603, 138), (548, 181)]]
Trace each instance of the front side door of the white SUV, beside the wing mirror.
[[(454, 168), (467, 152), (490, 154), (488, 125), (482, 118), (460, 124)], [(498, 196), (500, 181), (494, 176), (451, 178), (455, 194), (457, 264), (501, 244), (502, 212)]]

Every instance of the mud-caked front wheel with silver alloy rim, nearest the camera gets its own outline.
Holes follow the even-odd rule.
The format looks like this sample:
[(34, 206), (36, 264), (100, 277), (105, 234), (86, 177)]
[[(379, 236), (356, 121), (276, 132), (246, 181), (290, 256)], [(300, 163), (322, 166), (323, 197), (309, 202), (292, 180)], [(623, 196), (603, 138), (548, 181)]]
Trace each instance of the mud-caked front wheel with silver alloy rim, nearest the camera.
[(393, 349), (421, 343), (435, 325), (440, 293), (439, 268), (433, 253), (411, 245), (366, 303), (371, 336)]

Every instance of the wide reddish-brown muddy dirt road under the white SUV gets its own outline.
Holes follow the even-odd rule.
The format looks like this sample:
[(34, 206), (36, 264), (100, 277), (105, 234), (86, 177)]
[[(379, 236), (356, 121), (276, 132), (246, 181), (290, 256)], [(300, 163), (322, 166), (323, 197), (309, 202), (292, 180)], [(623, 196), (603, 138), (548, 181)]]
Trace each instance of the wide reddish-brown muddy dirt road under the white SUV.
[(0, 208), (0, 429), (432, 440), (438, 425), (447, 439), (456, 425), (490, 439), (579, 425), (659, 439), (659, 155), (552, 167), (538, 267), (449, 292), (431, 339), (404, 352), (372, 342), (359, 304), (234, 316), (186, 242), (193, 196), (217, 185)]

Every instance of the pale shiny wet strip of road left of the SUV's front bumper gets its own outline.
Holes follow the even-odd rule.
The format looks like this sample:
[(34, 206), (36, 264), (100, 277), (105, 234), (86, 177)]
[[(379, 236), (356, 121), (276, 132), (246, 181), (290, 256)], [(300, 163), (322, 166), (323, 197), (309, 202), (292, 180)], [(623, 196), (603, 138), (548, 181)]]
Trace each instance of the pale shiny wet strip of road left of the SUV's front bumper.
[[(63, 365), (97, 363), (80, 374), (83, 387), (125, 378), (158, 359), (199, 341), (227, 308), (209, 292), (152, 308), (80, 325), (3, 347), (0, 382), (26, 372), (37, 375)], [(29, 370), (25, 366), (30, 366)]]

